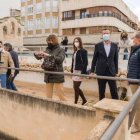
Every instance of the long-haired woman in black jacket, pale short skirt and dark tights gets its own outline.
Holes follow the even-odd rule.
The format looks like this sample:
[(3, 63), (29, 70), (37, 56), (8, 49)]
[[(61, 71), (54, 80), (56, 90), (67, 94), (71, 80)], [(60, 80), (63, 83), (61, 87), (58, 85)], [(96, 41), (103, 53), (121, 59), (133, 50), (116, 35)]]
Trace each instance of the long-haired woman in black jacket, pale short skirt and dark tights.
[[(74, 53), (72, 57), (72, 67), (71, 72), (74, 74), (87, 74), (87, 65), (88, 65), (88, 55), (87, 50), (83, 48), (82, 40), (80, 37), (76, 37), (73, 41)], [(79, 96), (82, 98), (82, 105), (84, 105), (87, 100), (83, 94), (83, 91), (80, 89), (82, 83), (82, 78), (79, 76), (73, 76), (73, 88), (75, 92), (75, 101), (77, 104)]]

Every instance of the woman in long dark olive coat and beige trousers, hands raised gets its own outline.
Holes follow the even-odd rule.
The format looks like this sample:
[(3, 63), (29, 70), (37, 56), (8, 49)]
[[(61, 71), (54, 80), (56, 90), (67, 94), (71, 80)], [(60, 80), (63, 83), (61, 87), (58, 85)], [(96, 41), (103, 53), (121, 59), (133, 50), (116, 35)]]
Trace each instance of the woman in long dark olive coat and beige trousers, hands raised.
[[(65, 59), (65, 51), (60, 48), (58, 44), (58, 39), (56, 35), (49, 35), (47, 38), (48, 47), (45, 52), (36, 52), (35, 57), (40, 59), (50, 59), (54, 60), (56, 64), (56, 69), (50, 70), (55, 72), (63, 72), (63, 61)], [(64, 75), (56, 75), (56, 74), (45, 74), (44, 81), (46, 83), (46, 93), (47, 97), (52, 99), (53, 91), (57, 91), (57, 95), (60, 100), (66, 101), (64, 97), (63, 83), (64, 83)], [(57, 89), (57, 90), (56, 90)]]

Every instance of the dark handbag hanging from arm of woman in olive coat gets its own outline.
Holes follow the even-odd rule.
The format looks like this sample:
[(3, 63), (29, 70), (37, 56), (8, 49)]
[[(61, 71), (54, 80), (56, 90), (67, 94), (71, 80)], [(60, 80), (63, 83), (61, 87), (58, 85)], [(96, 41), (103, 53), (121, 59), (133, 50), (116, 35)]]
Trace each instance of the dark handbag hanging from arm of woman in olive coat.
[(57, 65), (56, 65), (55, 59), (52, 57), (45, 58), (41, 65), (41, 68), (46, 71), (56, 71)]

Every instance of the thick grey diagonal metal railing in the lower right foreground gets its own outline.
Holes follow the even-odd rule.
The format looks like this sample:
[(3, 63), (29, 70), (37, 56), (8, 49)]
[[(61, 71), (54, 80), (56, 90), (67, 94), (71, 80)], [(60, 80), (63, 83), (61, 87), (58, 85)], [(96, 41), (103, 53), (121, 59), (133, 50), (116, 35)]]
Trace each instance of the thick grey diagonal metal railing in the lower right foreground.
[[(119, 116), (114, 120), (114, 122), (111, 124), (111, 126), (107, 129), (107, 131), (101, 137), (101, 140), (112, 140), (113, 136), (117, 132), (118, 128), (120, 127), (120, 125), (122, 124), (122, 122), (126, 118), (126, 116), (128, 114), (131, 115), (131, 113), (134, 114), (133, 111), (135, 110), (135, 105), (137, 104), (139, 99), (140, 99), (140, 88), (138, 88), (138, 90), (133, 95), (133, 97), (128, 102), (128, 104), (125, 106), (123, 111), (119, 114)], [(130, 110), (132, 110), (132, 111), (130, 111)], [(133, 118), (131, 118), (131, 119), (133, 119)], [(130, 121), (132, 123), (132, 120), (130, 120), (130, 116), (129, 116), (129, 122)], [(131, 123), (129, 123), (129, 128), (131, 126)]]

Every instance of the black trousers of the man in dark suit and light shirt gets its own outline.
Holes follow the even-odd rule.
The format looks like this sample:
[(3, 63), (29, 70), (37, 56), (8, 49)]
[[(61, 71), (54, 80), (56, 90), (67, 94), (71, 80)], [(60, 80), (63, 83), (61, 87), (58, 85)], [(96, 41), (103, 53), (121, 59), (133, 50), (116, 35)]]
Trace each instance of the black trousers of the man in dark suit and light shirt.
[[(113, 75), (110, 73), (108, 68), (106, 69), (104, 76), (112, 76), (113, 77)], [(109, 85), (112, 99), (118, 99), (119, 97), (118, 97), (118, 93), (117, 93), (116, 81), (98, 79), (99, 100), (102, 100), (103, 98), (105, 98), (106, 83), (108, 83), (108, 85)]]

